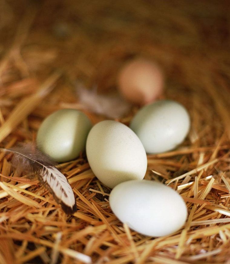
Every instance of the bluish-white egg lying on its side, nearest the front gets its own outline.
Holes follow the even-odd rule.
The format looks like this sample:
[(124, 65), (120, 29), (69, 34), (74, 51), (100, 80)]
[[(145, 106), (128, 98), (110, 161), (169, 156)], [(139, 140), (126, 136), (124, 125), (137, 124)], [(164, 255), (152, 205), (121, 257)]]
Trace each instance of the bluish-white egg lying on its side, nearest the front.
[(130, 180), (110, 193), (110, 207), (122, 223), (146, 236), (166, 236), (186, 221), (187, 208), (181, 196), (162, 183)]

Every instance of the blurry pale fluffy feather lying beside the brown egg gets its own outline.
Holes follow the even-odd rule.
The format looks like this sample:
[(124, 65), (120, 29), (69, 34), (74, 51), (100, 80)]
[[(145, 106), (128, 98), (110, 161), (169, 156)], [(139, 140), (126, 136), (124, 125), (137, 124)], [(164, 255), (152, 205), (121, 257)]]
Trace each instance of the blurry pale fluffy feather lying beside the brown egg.
[(88, 90), (77, 85), (77, 94), (84, 108), (110, 118), (123, 117), (131, 109), (131, 104), (118, 93), (98, 94), (96, 88)]

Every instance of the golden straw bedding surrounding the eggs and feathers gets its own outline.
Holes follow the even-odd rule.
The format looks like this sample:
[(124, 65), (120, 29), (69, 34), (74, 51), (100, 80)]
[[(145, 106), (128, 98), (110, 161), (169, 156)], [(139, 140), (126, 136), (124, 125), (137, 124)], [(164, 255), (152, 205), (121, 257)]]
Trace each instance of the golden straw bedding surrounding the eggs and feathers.
[[(230, 263), (227, 2), (2, 0), (0, 13), (1, 147), (33, 141), (57, 109), (80, 109), (77, 81), (114, 89), (118, 69), (135, 55), (162, 66), (165, 98), (192, 118), (179, 148), (148, 156), (145, 178), (177, 190), (189, 213), (182, 229), (156, 239), (114, 216), (110, 190), (84, 153), (59, 165), (77, 197), (72, 216), (0, 153), (0, 263)], [(119, 121), (128, 124), (136, 110)]]

